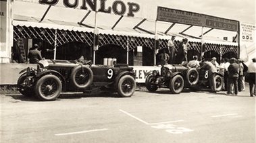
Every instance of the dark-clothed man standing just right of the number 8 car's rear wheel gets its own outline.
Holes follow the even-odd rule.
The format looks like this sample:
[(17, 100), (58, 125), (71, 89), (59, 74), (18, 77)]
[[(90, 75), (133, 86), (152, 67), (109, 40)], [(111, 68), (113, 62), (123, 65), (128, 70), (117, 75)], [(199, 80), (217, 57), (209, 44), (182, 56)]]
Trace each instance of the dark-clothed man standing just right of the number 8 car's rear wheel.
[(230, 95), (232, 91), (232, 85), (234, 85), (234, 94), (238, 94), (238, 77), (239, 65), (236, 63), (236, 58), (231, 58), (230, 66), (228, 66), (228, 92), (226, 95)]

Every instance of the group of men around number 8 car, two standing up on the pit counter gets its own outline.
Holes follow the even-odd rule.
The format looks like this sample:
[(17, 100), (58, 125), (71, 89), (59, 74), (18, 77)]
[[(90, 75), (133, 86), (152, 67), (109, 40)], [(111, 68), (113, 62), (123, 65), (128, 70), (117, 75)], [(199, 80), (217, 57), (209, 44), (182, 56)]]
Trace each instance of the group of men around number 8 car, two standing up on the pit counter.
[(182, 39), (182, 42), (180, 42), (177, 49), (175, 48), (174, 40), (175, 36), (172, 36), (172, 38), (168, 40), (166, 56), (169, 58), (165, 57), (165, 60), (168, 60), (165, 64), (182, 64), (182, 62), (184, 62), (190, 67), (207, 68), (210, 72), (211, 91), (215, 91), (214, 75), (217, 73), (217, 68), (224, 68), (224, 90), (227, 91), (226, 95), (238, 95), (238, 91), (245, 91), (245, 75), (247, 73), (250, 95), (251, 97), (255, 96), (256, 58), (253, 58), (253, 62), (249, 64), (248, 67), (242, 60), (236, 58), (230, 58), (230, 60), (228, 60), (228, 58), (224, 58), (222, 59), (222, 63), (219, 65), (215, 57), (211, 58), (210, 61), (201, 60), (201, 62), (199, 62), (197, 55), (195, 55), (193, 56), (193, 60), (188, 62), (188, 40), (186, 38)]

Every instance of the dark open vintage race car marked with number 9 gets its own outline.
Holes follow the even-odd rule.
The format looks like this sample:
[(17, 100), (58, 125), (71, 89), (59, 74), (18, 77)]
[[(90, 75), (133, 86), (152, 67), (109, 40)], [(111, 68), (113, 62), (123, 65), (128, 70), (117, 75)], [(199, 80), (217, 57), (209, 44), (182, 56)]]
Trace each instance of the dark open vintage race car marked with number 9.
[(127, 64), (105, 66), (84, 60), (41, 60), (37, 69), (28, 67), (20, 74), (18, 91), (25, 96), (36, 95), (42, 101), (55, 100), (61, 92), (89, 93), (95, 89), (131, 97), (136, 89), (133, 68)]

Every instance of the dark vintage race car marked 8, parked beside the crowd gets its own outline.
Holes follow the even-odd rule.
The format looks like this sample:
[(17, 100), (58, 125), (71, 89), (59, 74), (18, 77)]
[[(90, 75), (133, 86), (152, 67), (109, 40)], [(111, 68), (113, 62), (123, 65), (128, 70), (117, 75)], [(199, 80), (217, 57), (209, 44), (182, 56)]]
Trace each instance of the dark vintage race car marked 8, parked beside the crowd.
[[(171, 93), (178, 94), (184, 88), (195, 90), (209, 89), (209, 70), (203, 68), (190, 68), (188, 66), (165, 64), (161, 72), (153, 70), (147, 73), (145, 86), (153, 92), (158, 88), (169, 88)], [(220, 91), (224, 84), (223, 76), (215, 73), (215, 91)]]

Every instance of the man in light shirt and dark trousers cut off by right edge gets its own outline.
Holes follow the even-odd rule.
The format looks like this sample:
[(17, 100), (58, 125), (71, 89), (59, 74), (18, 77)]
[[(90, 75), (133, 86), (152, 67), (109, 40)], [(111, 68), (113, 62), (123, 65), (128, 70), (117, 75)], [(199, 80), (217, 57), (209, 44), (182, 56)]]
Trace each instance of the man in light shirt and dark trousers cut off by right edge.
[[(253, 62), (248, 65), (248, 76), (246, 77), (246, 81), (249, 83), (249, 88), (250, 88), (250, 95), (251, 97), (255, 96), (255, 84), (256, 84), (256, 58), (252, 59)], [(254, 87), (254, 93), (253, 93), (253, 87)]]

